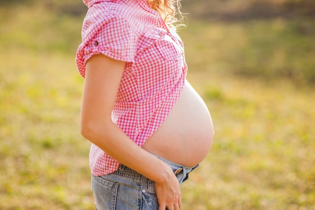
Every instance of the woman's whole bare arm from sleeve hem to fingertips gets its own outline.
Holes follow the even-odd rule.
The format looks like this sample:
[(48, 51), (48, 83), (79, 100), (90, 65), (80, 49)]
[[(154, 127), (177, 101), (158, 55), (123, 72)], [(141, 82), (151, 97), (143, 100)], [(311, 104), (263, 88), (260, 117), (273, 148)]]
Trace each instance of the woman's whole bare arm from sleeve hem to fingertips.
[(181, 196), (172, 169), (137, 146), (111, 120), (124, 66), (124, 61), (103, 54), (88, 60), (81, 107), (81, 133), (115, 160), (155, 181), (159, 210), (166, 207), (178, 210)]

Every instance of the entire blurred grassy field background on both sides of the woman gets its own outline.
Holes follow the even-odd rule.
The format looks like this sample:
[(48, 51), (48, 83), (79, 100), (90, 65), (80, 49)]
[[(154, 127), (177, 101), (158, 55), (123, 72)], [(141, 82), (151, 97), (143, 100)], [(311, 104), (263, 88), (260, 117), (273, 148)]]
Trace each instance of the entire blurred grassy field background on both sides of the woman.
[[(0, 209), (94, 209), (79, 131), (80, 0), (0, 1)], [(215, 126), (181, 209), (315, 209), (315, 2), (182, 1)]]

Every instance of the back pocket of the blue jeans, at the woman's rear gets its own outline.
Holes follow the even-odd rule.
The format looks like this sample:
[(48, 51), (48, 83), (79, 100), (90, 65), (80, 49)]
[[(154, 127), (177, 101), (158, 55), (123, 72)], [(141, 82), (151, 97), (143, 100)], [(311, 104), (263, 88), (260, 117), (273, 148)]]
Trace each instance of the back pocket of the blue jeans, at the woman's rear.
[(115, 210), (118, 183), (92, 176), (92, 189), (97, 210)]

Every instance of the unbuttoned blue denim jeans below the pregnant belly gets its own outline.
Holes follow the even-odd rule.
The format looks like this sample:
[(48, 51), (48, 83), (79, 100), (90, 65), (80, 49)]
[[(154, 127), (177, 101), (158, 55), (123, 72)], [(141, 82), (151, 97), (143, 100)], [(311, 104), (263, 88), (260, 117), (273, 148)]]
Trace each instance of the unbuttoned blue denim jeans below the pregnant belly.
[[(156, 156), (174, 171), (179, 183), (189, 178), (189, 173), (199, 166), (185, 167)], [(154, 181), (127, 166), (105, 176), (92, 175), (92, 190), (97, 210), (157, 210)]]

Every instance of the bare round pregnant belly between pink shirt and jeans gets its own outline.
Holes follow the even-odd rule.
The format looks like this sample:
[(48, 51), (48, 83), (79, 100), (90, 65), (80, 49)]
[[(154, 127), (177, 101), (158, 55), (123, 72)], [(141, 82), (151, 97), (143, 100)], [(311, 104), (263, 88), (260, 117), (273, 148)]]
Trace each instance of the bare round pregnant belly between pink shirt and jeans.
[(185, 81), (183, 92), (169, 116), (142, 148), (174, 163), (193, 167), (209, 152), (213, 134), (205, 103)]

